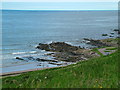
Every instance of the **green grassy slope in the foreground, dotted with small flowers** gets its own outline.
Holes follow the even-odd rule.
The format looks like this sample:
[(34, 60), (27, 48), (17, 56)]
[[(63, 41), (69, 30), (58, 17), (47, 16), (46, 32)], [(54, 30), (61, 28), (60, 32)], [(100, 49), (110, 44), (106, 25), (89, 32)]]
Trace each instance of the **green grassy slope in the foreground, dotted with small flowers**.
[(3, 78), (3, 88), (116, 88), (118, 52), (62, 68)]

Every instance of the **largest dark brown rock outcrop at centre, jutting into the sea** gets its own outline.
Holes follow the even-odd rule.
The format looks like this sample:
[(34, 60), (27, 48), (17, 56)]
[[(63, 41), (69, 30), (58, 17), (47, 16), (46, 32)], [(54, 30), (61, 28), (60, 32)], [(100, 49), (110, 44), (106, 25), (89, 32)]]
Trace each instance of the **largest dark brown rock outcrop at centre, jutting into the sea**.
[(37, 49), (52, 51), (54, 54), (48, 54), (55, 57), (58, 61), (77, 62), (80, 60), (87, 60), (88, 58), (95, 57), (97, 54), (77, 46), (72, 46), (65, 42), (52, 42), (50, 44), (39, 44)]

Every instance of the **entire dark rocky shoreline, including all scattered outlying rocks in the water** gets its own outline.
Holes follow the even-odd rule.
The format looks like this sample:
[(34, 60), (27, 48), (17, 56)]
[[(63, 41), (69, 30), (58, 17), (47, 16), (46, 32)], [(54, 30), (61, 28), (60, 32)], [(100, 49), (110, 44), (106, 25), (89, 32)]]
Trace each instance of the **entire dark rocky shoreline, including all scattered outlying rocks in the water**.
[[(113, 31), (117, 33), (120, 32), (118, 29), (114, 29)], [(113, 35), (114, 33), (111, 33), (111, 34)], [(104, 34), (103, 36), (107, 36), (107, 35), (108, 34)], [(92, 46), (96, 46), (97, 48), (118, 46), (117, 40), (113, 38), (102, 39), (102, 40), (84, 38), (83, 40), (84, 40), (84, 43), (90, 44)], [(96, 53), (90, 48), (85, 49), (85, 48), (81, 48), (80, 46), (72, 46), (65, 42), (52, 42), (50, 44), (39, 43), (36, 49), (52, 52), (46, 55), (54, 57), (54, 60), (47, 60), (47, 59), (34, 58), (34, 57), (28, 57), (28, 59), (36, 60), (39, 62), (49, 62), (49, 64), (53, 64), (53, 65), (62, 65), (61, 63), (59, 63), (60, 61), (78, 62), (81, 60), (88, 60), (89, 58), (100, 56), (98, 53)], [(24, 60), (23, 58), (20, 58), (20, 57), (16, 57), (16, 59)]]

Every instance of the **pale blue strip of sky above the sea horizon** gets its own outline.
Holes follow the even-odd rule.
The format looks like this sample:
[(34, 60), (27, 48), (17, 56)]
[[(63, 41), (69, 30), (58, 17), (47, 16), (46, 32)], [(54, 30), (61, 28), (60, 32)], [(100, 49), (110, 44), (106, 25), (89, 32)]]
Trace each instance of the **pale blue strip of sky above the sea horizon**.
[(5, 10), (117, 10), (119, 0), (2, 0)]

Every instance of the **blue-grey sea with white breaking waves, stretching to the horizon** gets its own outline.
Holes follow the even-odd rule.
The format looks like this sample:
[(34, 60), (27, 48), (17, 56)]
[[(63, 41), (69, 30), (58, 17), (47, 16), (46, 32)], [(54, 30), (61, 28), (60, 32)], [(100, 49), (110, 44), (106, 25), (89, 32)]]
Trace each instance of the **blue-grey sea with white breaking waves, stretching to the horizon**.
[[(28, 65), (35, 68), (34, 60), (20, 61), (15, 57), (53, 59), (37, 50), (39, 43), (52, 41), (80, 43), (83, 38), (103, 39), (103, 33), (118, 28), (117, 11), (12, 11), (2, 12), (2, 67), (3, 72), (14, 66)], [(8, 68), (9, 67), (9, 68)], [(23, 66), (24, 67), (24, 66)], [(25, 67), (24, 67), (25, 68)], [(13, 69), (11, 69), (13, 70)], [(19, 71), (19, 67), (16, 71)]]

